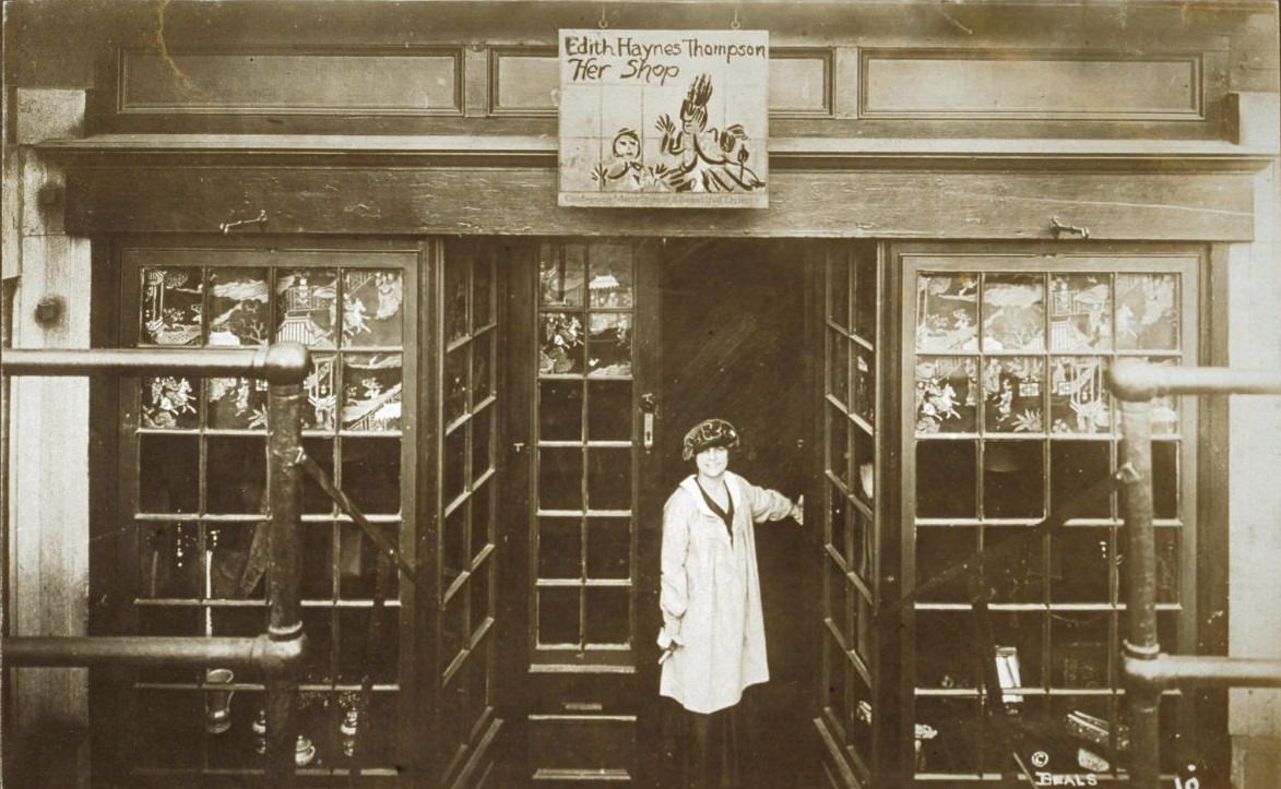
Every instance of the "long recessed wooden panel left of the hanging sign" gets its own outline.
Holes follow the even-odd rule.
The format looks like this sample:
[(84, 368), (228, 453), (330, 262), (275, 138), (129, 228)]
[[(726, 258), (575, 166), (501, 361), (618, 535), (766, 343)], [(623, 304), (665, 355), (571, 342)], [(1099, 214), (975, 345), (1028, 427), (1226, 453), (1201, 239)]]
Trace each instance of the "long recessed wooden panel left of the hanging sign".
[(460, 72), (450, 50), (124, 51), (119, 111), (456, 114)]

